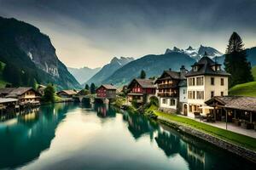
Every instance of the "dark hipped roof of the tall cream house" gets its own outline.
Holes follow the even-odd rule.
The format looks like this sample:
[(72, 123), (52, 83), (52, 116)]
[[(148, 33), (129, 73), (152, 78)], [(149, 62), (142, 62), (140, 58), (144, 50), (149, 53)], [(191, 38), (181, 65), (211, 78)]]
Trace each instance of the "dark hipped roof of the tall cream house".
[(218, 63), (215, 63), (210, 59), (209, 57), (205, 56), (202, 57), (198, 62), (195, 62), (194, 65), (191, 65), (192, 67), (198, 66), (197, 71), (189, 71), (186, 74), (186, 77), (194, 77), (194, 76), (200, 76), (200, 75), (211, 75), (211, 76), (230, 76), (229, 73), (226, 71), (220, 70), (219, 71), (213, 71), (212, 65), (219, 65)]

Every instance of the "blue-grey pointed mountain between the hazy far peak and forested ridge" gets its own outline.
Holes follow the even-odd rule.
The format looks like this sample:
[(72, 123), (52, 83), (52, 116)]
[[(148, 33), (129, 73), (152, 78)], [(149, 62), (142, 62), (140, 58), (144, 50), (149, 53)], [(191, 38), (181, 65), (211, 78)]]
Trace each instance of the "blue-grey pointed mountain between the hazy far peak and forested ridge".
[(134, 59), (131, 57), (120, 57), (119, 59), (114, 57), (108, 65), (104, 65), (101, 71), (98, 71), (96, 75), (91, 77), (86, 83), (90, 84), (91, 82), (94, 82), (96, 85), (101, 85), (102, 82), (108, 79), (108, 77), (110, 77), (114, 71), (117, 71), (119, 68), (133, 60)]

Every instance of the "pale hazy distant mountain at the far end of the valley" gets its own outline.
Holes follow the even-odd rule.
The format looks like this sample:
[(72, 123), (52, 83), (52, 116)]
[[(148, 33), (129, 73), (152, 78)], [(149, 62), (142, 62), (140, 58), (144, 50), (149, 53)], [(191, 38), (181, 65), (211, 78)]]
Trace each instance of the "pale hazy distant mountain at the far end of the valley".
[(91, 77), (93, 77), (98, 71), (101, 70), (100, 67), (91, 69), (84, 66), (83, 68), (70, 68), (67, 67), (67, 70), (79, 81), (80, 84), (87, 82)]

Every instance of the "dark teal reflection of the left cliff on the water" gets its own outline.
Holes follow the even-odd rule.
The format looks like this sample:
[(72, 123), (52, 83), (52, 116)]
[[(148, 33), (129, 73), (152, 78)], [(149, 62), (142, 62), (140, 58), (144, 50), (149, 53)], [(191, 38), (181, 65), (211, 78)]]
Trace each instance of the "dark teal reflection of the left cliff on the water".
[[(49, 148), (55, 128), (73, 105), (42, 106), (0, 123), (0, 168), (20, 167)], [(10, 123), (11, 122), (11, 123)]]

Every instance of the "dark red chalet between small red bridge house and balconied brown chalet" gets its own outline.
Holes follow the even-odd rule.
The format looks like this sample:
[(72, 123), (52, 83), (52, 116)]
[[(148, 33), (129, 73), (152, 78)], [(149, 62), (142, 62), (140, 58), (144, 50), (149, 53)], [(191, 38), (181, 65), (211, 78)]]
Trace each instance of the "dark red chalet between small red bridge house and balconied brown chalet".
[(145, 104), (155, 95), (156, 87), (150, 79), (133, 79), (128, 85), (128, 101), (137, 100), (138, 104)]

